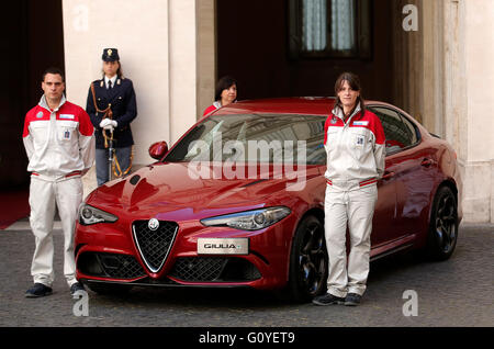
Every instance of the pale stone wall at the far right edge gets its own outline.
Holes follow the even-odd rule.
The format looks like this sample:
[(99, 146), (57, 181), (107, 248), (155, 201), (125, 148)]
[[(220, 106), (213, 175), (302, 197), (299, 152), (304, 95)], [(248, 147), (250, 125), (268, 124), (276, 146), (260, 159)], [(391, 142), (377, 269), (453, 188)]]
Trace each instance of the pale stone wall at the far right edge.
[[(459, 76), (451, 81), (457, 93), (451, 103), (460, 103), (458, 130), (451, 130), (463, 169), (464, 216), (468, 222), (494, 223), (494, 1), (448, 0), (446, 9), (459, 27), (448, 33), (460, 36), (457, 52)], [(456, 50), (448, 54), (457, 54)], [(451, 138), (451, 137), (450, 137)]]

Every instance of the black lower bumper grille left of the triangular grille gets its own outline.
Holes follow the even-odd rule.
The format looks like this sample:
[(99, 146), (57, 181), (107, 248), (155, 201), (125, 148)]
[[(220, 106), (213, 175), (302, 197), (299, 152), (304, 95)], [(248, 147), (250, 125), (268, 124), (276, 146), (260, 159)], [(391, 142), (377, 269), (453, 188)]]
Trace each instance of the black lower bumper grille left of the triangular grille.
[(83, 252), (77, 268), (87, 275), (111, 279), (136, 279), (146, 275), (133, 256), (119, 254)]

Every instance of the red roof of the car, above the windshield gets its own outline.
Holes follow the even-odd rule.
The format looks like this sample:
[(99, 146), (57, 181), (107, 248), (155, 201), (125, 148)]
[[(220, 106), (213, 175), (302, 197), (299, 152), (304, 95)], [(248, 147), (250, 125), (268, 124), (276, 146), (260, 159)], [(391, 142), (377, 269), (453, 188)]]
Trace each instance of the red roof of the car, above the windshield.
[[(336, 99), (334, 97), (297, 97), (246, 100), (221, 108), (214, 112), (213, 115), (272, 113), (327, 116), (335, 105), (335, 100)], [(389, 105), (377, 101), (366, 101), (366, 104)]]

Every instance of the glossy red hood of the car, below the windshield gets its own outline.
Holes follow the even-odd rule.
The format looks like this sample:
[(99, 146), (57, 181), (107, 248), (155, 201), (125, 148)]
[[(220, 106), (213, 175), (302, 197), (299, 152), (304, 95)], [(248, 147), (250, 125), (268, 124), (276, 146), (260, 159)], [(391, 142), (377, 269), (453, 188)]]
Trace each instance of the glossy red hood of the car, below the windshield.
[[(248, 168), (243, 169), (244, 173), (249, 173)], [(146, 215), (178, 210), (187, 210), (188, 216), (205, 211), (211, 215), (238, 207), (252, 210), (265, 206), (277, 193), (290, 193), (288, 185), (297, 183), (296, 178), (273, 178), (272, 170), (271, 167), (262, 178), (259, 174), (256, 178), (246, 174), (246, 179), (226, 179), (221, 174), (220, 178), (199, 178), (187, 162), (154, 164), (124, 179), (101, 185), (91, 193), (87, 203), (103, 210), (123, 209)], [(307, 180), (311, 179), (306, 169), (304, 173)], [(312, 178), (319, 176), (317, 169), (312, 173)]]

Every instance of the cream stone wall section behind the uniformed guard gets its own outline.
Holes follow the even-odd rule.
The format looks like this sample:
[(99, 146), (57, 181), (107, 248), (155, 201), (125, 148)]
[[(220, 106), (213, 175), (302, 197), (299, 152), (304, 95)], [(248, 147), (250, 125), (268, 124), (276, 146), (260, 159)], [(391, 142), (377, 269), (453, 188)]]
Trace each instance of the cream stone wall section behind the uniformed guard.
[[(124, 76), (134, 82), (133, 169), (153, 161), (153, 143), (171, 146), (212, 102), (214, 5), (214, 0), (63, 0), (68, 99), (86, 108), (89, 83), (102, 77), (106, 47), (119, 49)], [(93, 188), (90, 171), (85, 193)]]

